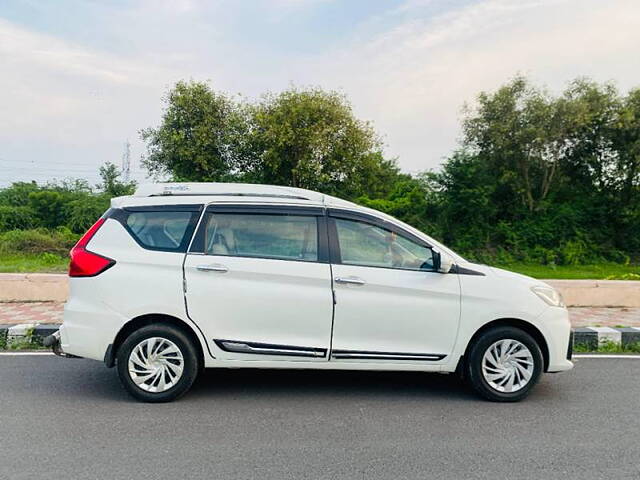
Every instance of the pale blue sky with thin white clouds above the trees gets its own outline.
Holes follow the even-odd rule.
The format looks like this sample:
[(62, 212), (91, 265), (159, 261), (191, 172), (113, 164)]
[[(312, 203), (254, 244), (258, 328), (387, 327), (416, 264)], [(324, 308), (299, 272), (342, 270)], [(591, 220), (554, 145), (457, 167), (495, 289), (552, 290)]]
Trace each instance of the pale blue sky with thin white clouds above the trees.
[(462, 107), (517, 74), (640, 86), (638, 0), (2, 0), (0, 187), (98, 181), (180, 79), (249, 99), (344, 93), (407, 172), (458, 145)]

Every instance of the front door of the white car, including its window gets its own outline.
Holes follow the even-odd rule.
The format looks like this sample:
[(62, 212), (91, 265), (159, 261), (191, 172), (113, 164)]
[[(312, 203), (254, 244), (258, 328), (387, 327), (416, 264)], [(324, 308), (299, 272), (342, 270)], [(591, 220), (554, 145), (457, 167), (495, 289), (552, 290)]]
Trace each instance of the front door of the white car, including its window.
[(458, 331), (458, 275), (436, 272), (425, 241), (377, 217), (330, 210), (328, 225), (332, 361), (443, 360)]

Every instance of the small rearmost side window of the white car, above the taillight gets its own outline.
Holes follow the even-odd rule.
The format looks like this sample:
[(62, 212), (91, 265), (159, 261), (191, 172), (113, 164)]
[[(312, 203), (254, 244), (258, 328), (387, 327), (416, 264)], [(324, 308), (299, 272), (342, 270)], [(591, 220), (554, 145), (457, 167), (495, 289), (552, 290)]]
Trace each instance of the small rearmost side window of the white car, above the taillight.
[(199, 217), (199, 207), (131, 208), (114, 213), (143, 248), (163, 252), (186, 252)]

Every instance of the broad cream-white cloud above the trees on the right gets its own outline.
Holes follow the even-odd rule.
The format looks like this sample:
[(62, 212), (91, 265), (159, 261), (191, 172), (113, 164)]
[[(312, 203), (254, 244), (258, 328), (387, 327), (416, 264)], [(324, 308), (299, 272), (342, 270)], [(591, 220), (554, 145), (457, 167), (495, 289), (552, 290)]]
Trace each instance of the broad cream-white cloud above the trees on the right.
[(517, 73), (556, 91), (583, 75), (623, 88), (639, 78), (639, 2), (488, 0), (420, 18), (431, 4), (406, 5), (410, 18), (305, 66), (344, 89), (408, 170), (436, 167), (463, 103)]

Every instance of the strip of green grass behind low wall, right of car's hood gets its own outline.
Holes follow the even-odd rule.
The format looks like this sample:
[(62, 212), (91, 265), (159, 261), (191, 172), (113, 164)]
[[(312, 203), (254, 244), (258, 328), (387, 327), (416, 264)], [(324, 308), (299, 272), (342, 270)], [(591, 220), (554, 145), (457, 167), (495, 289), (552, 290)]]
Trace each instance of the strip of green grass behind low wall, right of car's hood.
[(510, 263), (495, 265), (533, 278), (557, 280), (640, 280), (640, 265), (601, 263), (597, 265), (537, 265)]

